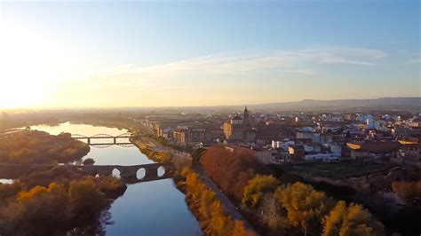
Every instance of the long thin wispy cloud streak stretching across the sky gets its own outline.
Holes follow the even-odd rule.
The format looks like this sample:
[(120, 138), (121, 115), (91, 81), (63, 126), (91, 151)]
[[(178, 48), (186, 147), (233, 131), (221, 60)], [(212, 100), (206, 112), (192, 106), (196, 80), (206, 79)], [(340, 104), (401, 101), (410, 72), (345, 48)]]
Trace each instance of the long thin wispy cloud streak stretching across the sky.
[[(322, 64), (372, 67), (385, 56), (384, 51), (349, 47), (268, 53), (219, 53), (149, 67), (121, 65), (107, 68), (94, 77), (99, 83), (147, 90), (171, 79), (258, 76), (259, 72), (267, 71), (274, 71), (274, 75), (309, 76), (320, 73), (318, 67)], [(182, 83), (182, 80), (178, 83)]]

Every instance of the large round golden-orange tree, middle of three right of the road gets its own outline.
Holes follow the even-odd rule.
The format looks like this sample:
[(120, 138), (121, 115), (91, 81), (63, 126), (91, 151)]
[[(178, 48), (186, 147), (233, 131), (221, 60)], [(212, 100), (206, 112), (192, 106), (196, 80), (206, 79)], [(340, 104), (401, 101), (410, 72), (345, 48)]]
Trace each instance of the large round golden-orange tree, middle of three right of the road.
[(333, 205), (325, 193), (315, 191), (311, 185), (297, 182), (279, 187), (275, 198), (281, 201), (287, 211), (290, 226), (307, 232), (321, 232), (322, 219)]

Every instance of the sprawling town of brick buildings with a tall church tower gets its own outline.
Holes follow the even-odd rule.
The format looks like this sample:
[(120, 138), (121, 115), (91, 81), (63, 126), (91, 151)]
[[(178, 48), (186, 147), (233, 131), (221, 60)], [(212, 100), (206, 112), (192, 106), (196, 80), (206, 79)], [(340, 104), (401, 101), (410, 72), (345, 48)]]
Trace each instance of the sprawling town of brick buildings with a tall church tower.
[(421, 116), (411, 113), (152, 114), (136, 118), (185, 149), (226, 145), (265, 164), (373, 161), (420, 166)]

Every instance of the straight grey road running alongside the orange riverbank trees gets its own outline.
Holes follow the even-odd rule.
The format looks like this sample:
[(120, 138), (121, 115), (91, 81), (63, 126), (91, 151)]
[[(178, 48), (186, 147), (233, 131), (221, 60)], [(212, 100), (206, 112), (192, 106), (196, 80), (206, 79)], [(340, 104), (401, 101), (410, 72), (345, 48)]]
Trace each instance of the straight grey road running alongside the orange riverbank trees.
[(224, 193), (218, 188), (215, 183), (211, 180), (210, 177), (206, 176), (203, 172), (203, 169), (200, 167), (193, 167), (195, 172), (199, 175), (200, 180), (203, 182), (204, 185), (206, 185), (208, 188), (213, 190), (218, 200), (221, 202), (222, 207), (226, 210), (226, 212), (233, 217), (234, 220), (239, 220), (244, 225), (244, 228), (246, 228), (248, 231), (258, 233), (253, 229), (251, 224), (242, 216), (240, 211), (234, 206), (234, 204), (226, 197)]

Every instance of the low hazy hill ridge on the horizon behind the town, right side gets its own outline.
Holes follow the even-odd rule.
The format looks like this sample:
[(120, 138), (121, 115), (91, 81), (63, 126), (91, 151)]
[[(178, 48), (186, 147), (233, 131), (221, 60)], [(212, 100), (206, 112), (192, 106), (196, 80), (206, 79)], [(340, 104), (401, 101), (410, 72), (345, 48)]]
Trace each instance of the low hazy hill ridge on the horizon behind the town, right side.
[(276, 110), (314, 110), (346, 108), (421, 108), (421, 97), (408, 98), (374, 98), (374, 99), (339, 99), (339, 100), (313, 100), (306, 99), (298, 102), (269, 103), (251, 105), (250, 108), (276, 109)]

